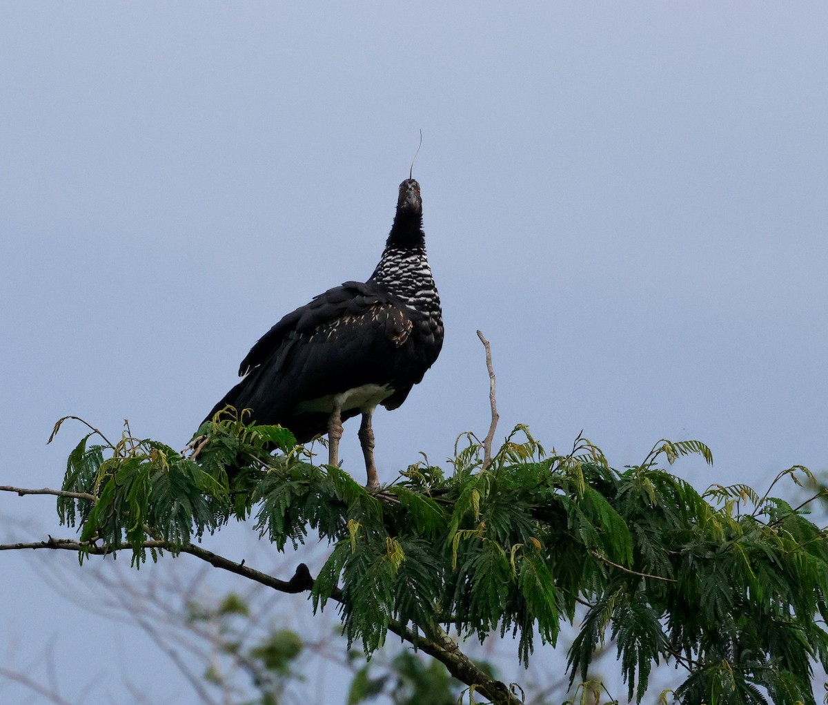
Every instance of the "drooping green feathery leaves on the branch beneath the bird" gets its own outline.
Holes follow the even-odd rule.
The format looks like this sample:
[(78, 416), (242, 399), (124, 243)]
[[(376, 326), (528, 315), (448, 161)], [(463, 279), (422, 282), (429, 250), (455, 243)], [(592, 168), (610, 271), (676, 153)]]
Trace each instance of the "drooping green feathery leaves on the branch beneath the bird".
[[(451, 476), (416, 464), (373, 493), (310, 463), (284, 429), (234, 420), (200, 433), (190, 456), (128, 429), (115, 444), (84, 437), (64, 484), (79, 496), (60, 499), (61, 519), (95, 546), (131, 546), (136, 563), (147, 542), (175, 552), (233, 518), (253, 516), (279, 550), (312, 532), (332, 547), (314, 606), (337, 601), (349, 643), (368, 655), (390, 625), (426, 639), (454, 625), (461, 638), (511, 632), (526, 663), (537, 638), (555, 645), (561, 620), (577, 619), (572, 682), (590, 682), (609, 639), (638, 702), (667, 661), (685, 673), (673, 695), (686, 705), (815, 705), (812, 665), (828, 668), (828, 541), (804, 505), (770, 496), (783, 477), (812, 481), (805, 468), (763, 496), (745, 485), (700, 494), (657, 465), (691, 453), (712, 462), (700, 442), (662, 440), (616, 471), (583, 438), (547, 454), (518, 427), (485, 470), (467, 434)], [(377, 687), (366, 669), (351, 702)]]

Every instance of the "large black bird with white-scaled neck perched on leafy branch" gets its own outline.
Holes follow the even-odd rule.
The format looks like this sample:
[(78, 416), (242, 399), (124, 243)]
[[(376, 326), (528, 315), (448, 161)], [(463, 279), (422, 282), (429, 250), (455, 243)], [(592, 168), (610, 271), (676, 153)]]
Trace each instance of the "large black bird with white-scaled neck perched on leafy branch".
[(397, 213), (367, 282), (344, 282), (287, 314), (253, 345), (244, 379), (215, 405), (249, 408), (258, 423), (290, 428), (298, 442), (327, 433), (330, 465), (339, 462), (342, 422), (362, 414), (359, 442), (368, 487), (379, 485), (371, 415), (394, 409), (443, 345), (440, 296), (426, 258), (420, 185), (400, 184)]

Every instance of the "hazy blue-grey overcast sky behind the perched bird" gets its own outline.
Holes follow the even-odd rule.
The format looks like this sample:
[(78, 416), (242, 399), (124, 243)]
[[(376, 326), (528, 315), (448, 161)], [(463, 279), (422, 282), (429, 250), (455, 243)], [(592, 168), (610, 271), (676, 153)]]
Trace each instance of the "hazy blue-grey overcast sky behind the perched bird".
[[(375, 416), (381, 480), (484, 434), (478, 328), (500, 437), (583, 429), (616, 467), (697, 438), (700, 488), (828, 469), (826, 5), (451, 4), (0, 4), (0, 484), (60, 485), (65, 414), (182, 447), (264, 331), (372, 272), (420, 129), (445, 345)], [(51, 499), (0, 497), (0, 543), (12, 518), (70, 535)], [(0, 663), (54, 636), (70, 697), (78, 630), (125, 637), (34, 561), (0, 556)]]

